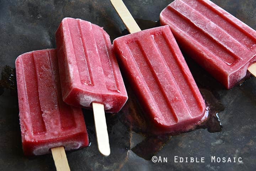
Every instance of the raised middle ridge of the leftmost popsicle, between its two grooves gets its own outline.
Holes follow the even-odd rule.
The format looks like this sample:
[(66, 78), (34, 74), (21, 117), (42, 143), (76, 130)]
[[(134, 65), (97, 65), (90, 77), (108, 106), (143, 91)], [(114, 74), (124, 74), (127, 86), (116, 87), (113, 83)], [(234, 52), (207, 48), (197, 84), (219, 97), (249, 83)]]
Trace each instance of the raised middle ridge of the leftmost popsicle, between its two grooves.
[(35, 84), (38, 85), (39, 102), (41, 110), (43, 112), (43, 121), (44, 123), (53, 123), (46, 124), (46, 130), (47, 132), (59, 132), (60, 113), (58, 106), (57, 86), (52, 75), (52, 68), (49, 61), (48, 53), (33, 52), (32, 57), (36, 68), (37, 80), (35, 80)]

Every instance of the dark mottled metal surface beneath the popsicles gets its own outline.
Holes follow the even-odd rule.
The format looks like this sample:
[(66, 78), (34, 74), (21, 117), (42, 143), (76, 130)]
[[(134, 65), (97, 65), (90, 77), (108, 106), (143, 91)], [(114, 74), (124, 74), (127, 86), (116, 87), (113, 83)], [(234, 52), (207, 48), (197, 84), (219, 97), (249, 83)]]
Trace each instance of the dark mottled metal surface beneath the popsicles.
[[(143, 20), (159, 20), (159, 14), (171, 0), (124, 1), (134, 16)], [(213, 0), (240, 20), (256, 29), (255, 0)], [(54, 48), (54, 33), (64, 17), (81, 18), (105, 28), (111, 39), (125, 29), (108, 0), (13, 0), (0, 1), (0, 70), (14, 68), (18, 55), (38, 49)], [(141, 26), (146, 28), (145, 26)], [(143, 137), (130, 131), (117, 116), (108, 115), (111, 155), (103, 157), (97, 150), (93, 118), (84, 111), (91, 146), (67, 154), (73, 171), (84, 170), (218, 170), (255, 171), (256, 169), (256, 79), (225, 90), (192, 60), (186, 59), (199, 87), (209, 90), (225, 107), (219, 113), (222, 131), (206, 129), (173, 136), (156, 156), (167, 157), (167, 163), (153, 163), (131, 149)], [(2, 76), (3, 79), (3, 76)], [(132, 93), (129, 91), (129, 93)], [(154, 143), (149, 141), (149, 146)], [(146, 144), (145, 144), (146, 146)], [(142, 147), (143, 148), (143, 147)], [(242, 157), (241, 163), (212, 163), (210, 156)], [(175, 163), (174, 156), (205, 157), (204, 163)], [(0, 170), (55, 170), (51, 155), (25, 157), (22, 153), (18, 122), (17, 96), (0, 87)]]

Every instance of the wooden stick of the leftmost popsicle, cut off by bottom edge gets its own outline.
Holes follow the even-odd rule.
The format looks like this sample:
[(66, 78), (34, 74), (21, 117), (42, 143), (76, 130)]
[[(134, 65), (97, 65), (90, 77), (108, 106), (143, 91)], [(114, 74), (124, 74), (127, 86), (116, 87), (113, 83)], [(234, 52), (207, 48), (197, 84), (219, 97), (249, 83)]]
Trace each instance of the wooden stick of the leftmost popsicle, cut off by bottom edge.
[(63, 146), (51, 148), (57, 171), (70, 171), (68, 159)]

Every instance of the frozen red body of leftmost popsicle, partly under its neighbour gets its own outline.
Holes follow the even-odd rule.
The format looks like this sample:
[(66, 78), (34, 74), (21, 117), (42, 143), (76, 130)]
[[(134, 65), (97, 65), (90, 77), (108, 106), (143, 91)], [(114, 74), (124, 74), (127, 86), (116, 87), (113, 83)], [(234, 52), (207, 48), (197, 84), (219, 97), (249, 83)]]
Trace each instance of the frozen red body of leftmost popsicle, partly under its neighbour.
[(25, 155), (43, 155), (50, 150), (63, 153), (64, 148), (88, 146), (81, 108), (66, 105), (62, 100), (56, 50), (22, 54), (15, 64)]

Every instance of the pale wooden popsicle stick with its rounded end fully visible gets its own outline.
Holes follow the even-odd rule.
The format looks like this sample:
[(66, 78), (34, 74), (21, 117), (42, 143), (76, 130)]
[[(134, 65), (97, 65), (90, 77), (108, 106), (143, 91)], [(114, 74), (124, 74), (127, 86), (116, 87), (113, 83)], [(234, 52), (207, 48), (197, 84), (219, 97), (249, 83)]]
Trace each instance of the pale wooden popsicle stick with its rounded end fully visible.
[(107, 123), (104, 111), (104, 105), (92, 103), (94, 111), (94, 122), (97, 136), (98, 149), (104, 156), (110, 155), (110, 144), (107, 132)]

